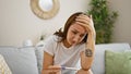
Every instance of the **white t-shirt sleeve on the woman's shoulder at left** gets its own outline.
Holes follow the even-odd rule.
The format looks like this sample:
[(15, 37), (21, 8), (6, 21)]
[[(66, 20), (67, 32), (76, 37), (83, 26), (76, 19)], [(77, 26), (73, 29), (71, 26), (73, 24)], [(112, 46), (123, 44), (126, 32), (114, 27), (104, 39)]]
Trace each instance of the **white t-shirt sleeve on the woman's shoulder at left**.
[(57, 47), (57, 36), (52, 35), (45, 40), (44, 51), (53, 55)]

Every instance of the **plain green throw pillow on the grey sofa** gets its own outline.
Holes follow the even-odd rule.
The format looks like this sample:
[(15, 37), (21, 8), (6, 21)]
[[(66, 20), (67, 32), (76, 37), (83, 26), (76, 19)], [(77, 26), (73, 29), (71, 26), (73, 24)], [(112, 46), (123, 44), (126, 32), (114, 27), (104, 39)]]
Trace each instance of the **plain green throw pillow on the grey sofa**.
[(131, 74), (131, 52), (105, 52), (106, 74)]

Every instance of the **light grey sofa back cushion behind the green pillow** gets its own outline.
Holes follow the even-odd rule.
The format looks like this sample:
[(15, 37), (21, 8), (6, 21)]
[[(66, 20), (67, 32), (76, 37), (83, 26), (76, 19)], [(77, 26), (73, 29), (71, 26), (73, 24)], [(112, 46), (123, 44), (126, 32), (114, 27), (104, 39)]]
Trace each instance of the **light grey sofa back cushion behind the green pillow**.
[(95, 58), (92, 65), (94, 74), (105, 74), (105, 50), (130, 50), (129, 44), (100, 44), (95, 47)]

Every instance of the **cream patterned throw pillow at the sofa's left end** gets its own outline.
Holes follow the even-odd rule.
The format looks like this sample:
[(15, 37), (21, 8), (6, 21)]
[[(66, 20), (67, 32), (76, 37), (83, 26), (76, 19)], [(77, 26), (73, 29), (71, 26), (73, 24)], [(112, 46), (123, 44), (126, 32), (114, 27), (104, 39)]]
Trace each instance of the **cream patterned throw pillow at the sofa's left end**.
[(0, 54), (0, 74), (12, 74), (3, 55)]

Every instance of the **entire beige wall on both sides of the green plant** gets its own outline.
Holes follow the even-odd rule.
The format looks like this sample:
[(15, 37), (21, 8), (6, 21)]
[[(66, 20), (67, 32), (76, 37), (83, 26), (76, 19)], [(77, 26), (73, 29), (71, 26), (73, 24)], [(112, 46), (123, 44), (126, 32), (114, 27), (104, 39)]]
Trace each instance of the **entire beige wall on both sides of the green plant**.
[[(52, 34), (62, 27), (70, 14), (86, 11), (90, 0), (59, 0), (59, 13), (50, 20), (40, 20), (31, 10), (29, 0), (0, 0), (0, 46), (22, 46), (26, 39), (35, 45), (40, 35)], [(115, 24), (114, 42), (131, 44), (130, 0), (109, 0), (119, 11)]]

